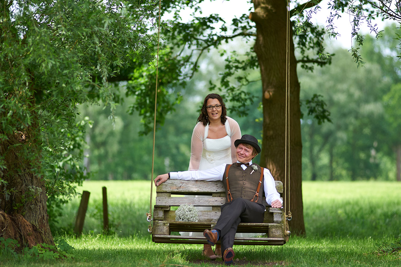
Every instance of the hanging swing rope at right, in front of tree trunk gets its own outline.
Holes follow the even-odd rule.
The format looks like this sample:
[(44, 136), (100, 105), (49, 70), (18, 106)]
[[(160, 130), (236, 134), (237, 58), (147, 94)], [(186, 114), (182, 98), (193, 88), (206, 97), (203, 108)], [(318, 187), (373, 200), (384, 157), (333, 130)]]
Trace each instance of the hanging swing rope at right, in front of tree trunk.
[[(288, 242), (290, 237), (290, 228), (288, 227), (287, 220), (292, 219), (292, 214), (290, 211), (290, 0), (287, 0), (287, 44), (286, 44), (286, 129), (285, 129), (285, 171), (284, 171), (284, 214), (286, 214), (285, 220), (285, 231), (284, 237), (286, 242)], [(288, 153), (287, 153), (288, 151)], [(287, 164), (288, 161), (288, 164)], [(288, 186), (287, 186), (287, 177), (288, 177)], [(288, 197), (287, 197), (288, 191)], [(288, 202), (287, 202), (288, 200)], [(288, 204), (287, 204), (288, 203)], [(288, 214), (287, 214), (287, 206), (288, 206)]]

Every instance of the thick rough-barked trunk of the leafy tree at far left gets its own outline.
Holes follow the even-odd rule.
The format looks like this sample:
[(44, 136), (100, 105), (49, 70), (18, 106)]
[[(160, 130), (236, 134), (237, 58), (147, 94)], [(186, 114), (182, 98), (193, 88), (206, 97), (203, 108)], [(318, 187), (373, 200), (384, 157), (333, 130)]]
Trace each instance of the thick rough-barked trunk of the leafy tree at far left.
[(0, 181), (6, 182), (0, 182), (0, 236), (17, 240), (17, 251), (26, 245), (54, 245), (45, 182), (36, 174), (41, 153), (37, 123), (22, 131), (10, 135), (0, 129), (0, 135), (7, 136), (0, 142), (0, 154), (6, 162), (0, 171)]

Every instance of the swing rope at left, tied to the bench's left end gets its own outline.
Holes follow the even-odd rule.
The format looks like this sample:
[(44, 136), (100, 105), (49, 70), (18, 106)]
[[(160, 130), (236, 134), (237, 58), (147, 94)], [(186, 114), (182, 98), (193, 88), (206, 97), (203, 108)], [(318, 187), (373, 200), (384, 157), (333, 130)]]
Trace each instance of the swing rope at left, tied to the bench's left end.
[(152, 174), (150, 179), (150, 201), (149, 201), (149, 212), (146, 213), (147, 220), (149, 222), (148, 232), (152, 234), (152, 199), (153, 199), (153, 170), (154, 170), (154, 143), (156, 139), (156, 107), (157, 107), (157, 84), (159, 75), (159, 48), (160, 48), (160, 12), (162, 10), (162, 0), (159, 0), (159, 19), (157, 24), (157, 57), (156, 57), (156, 89), (154, 91), (154, 121), (153, 121), (153, 150), (152, 150)]

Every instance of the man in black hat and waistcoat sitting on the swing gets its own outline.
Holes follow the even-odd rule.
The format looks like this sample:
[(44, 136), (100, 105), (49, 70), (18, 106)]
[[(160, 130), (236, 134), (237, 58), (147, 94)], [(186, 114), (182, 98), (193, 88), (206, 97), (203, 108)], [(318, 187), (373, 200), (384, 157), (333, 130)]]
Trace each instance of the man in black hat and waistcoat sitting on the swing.
[(221, 241), (223, 260), (227, 265), (233, 262), (235, 256), (233, 245), (239, 223), (263, 223), (265, 212), (265, 206), (262, 204), (263, 194), (267, 204), (273, 208), (282, 207), (282, 200), (270, 171), (252, 162), (261, 151), (257, 139), (244, 134), (241, 139), (235, 140), (234, 145), (237, 163), (222, 164), (203, 171), (169, 172), (154, 179), (156, 186), (168, 179), (223, 182), (226, 200), (221, 206), (221, 215), (214, 229), (206, 229), (203, 235), (212, 246), (218, 240)]

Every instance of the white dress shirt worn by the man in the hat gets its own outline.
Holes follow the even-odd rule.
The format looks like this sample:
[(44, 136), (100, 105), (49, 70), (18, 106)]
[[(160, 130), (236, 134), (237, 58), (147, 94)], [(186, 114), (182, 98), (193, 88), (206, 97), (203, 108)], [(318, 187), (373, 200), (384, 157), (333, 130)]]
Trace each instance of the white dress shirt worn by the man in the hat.
[[(227, 164), (221, 164), (215, 168), (209, 170), (188, 170), (184, 172), (170, 172), (170, 179), (176, 180), (205, 180), (205, 181), (221, 181), (223, 180), (223, 175), (225, 167)], [(252, 160), (249, 162), (249, 166), (252, 165)], [(245, 170), (247, 166), (241, 165), (241, 168)], [(283, 203), (280, 198), (280, 194), (275, 188), (275, 182), (273, 176), (271, 176), (270, 171), (267, 168), (263, 168), (263, 189), (265, 190), (265, 197), (267, 204), (271, 205), (271, 202), (278, 199)]]

